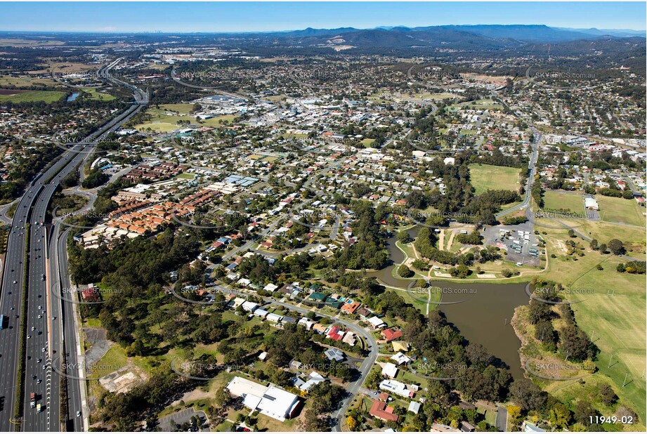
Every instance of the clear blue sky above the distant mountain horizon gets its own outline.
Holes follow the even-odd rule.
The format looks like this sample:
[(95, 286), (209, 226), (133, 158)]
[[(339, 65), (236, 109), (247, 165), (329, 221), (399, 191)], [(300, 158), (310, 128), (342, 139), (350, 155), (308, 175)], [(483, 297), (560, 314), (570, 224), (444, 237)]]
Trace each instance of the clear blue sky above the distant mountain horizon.
[(306, 27), (544, 24), (646, 28), (636, 2), (0, 2), (0, 31), (266, 32)]

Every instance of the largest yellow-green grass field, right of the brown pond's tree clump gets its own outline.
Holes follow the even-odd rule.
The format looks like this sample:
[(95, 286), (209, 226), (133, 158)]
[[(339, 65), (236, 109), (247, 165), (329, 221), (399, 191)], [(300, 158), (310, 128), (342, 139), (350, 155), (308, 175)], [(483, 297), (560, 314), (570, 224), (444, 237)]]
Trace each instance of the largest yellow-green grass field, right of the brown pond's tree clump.
[[(608, 223), (587, 222), (586, 228), (601, 231), (597, 236), (600, 242), (606, 242), (617, 234), (610, 229), (601, 230), (600, 226), (633, 230), (636, 239), (640, 229), (609, 225)], [(583, 232), (582, 228), (578, 228)], [(545, 277), (561, 282), (570, 288), (569, 301), (577, 301), (572, 307), (575, 311), (577, 324), (587, 332), (600, 348), (596, 366), (599, 374), (607, 376), (614, 383), (614, 390), (625, 405), (638, 412), (641, 421), (646, 419), (646, 296), (644, 275), (630, 275), (615, 270), (617, 263), (626, 262), (622, 258), (610, 254), (601, 255), (588, 248), (588, 243), (582, 239), (574, 239), (586, 246), (584, 256), (574, 261), (565, 256), (564, 242), (568, 238), (567, 230), (547, 229), (548, 254), (556, 254), (557, 258), (549, 258), (549, 267)], [(644, 243), (644, 232), (640, 232)], [(593, 234), (592, 234), (593, 235)], [(589, 235), (589, 236), (592, 236)], [(618, 237), (625, 241), (627, 238)], [(600, 264), (603, 270), (597, 270)], [(613, 358), (612, 358), (613, 357)], [(608, 367), (609, 360), (613, 360)], [(625, 374), (632, 380), (624, 388)]]

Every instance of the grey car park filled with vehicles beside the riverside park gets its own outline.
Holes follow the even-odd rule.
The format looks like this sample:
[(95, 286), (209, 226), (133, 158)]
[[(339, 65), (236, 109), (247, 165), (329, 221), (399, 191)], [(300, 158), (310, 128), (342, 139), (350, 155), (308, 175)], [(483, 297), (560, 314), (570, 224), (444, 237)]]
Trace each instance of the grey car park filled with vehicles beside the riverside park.
[(533, 267), (540, 266), (540, 254), (543, 249), (538, 246), (537, 237), (532, 232), (530, 222), (486, 228), (483, 237), (485, 244), (497, 246), (506, 251), (506, 261)]

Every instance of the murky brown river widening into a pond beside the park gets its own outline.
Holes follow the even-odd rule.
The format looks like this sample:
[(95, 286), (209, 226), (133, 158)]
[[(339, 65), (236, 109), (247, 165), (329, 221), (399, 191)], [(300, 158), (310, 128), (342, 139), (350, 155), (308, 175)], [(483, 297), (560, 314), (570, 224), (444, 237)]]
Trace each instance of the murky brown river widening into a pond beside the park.
[[(417, 228), (408, 231), (412, 237)], [(367, 277), (377, 277), (381, 282), (405, 289), (410, 281), (398, 280), (391, 270), (405, 256), (396, 246), (396, 237), (388, 239), (388, 254), (391, 265), (379, 271), (368, 272)], [(471, 342), (480, 343), (488, 351), (510, 367), (515, 379), (523, 377), (519, 348), (521, 341), (510, 325), (514, 309), (528, 303), (526, 284), (459, 283), (432, 281), (433, 287), (443, 289), (440, 310), (461, 334)], [(453, 302), (452, 304), (445, 304)]]

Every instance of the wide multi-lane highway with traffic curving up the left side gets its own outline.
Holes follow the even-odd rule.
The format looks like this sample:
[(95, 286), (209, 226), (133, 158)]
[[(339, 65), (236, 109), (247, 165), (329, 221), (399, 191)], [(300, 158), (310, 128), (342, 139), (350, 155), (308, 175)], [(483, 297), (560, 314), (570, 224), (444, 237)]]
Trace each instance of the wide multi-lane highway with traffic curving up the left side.
[[(45, 224), (46, 211), (60, 180), (74, 170), (92, 152), (95, 143), (117, 130), (119, 126), (148, 103), (148, 93), (124, 81), (110, 77), (110, 69), (119, 60), (101, 68), (98, 76), (133, 90), (135, 104), (108, 121), (97, 131), (70, 147), (51, 167), (37, 176), (18, 204), (8, 235), (7, 254), (0, 293), (0, 314), (8, 317), (0, 330), (0, 430), (60, 430), (60, 376), (51, 369), (51, 361), (60, 362), (60, 308), (51, 294), (52, 276), (48, 267), (48, 238), (51, 228)], [(27, 246), (27, 223), (30, 238)], [(56, 239), (53, 239), (56, 242)], [(25, 254), (28, 254), (29, 269)], [(27, 272), (28, 271), (28, 272)], [(24, 282), (27, 277), (27, 282)], [(58, 280), (58, 279), (57, 279)], [(27, 305), (23, 305), (23, 286), (27, 284)], [(60, 291), (60, 285), (53, 289)], [(20, 362), (20, 321), (25, 309), (26, 335), (23, 388), (17, 390)], [(58, 320), (57, 320), (58, 319)], [(67, 329), (70, 324), (63, 323)], [(74, 332), (76, 332), (74, 330)], [(22, 396), (17, 396), (22, 393)], [(36, 393), (41, 411), (30, 406), (30, 393)], [(22, 400), (22, 424), (13, 420), (15, 404)], [(78, 405), (80, 407), (80, 403)], [(70, 409), (70, 412), (72, 409)], [(74, 414), (76, 416), (76, 414)]]

